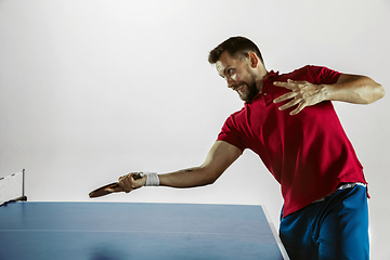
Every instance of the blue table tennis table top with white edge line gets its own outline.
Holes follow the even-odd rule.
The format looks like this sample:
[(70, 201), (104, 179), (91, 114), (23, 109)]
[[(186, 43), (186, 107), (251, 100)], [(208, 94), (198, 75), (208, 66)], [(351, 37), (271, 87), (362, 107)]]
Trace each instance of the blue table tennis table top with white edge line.
[(261, 206), (17, 202), (0, 260), (288, 259)]

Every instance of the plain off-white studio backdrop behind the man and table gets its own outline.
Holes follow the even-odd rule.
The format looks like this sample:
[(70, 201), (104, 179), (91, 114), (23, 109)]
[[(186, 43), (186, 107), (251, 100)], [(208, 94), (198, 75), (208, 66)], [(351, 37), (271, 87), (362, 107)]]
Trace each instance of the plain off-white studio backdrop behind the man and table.
[[(258, 43), (269, 70), (306, 64), (368, 75), (388, 92), (390, 1), (0, 0), (0, 176), (26, 169), (29, 200), (89, 202), (130, 171), (203, 164), (243, 106), (208, 52)], [(389, 96), (335, 103), (369, 182), (372, 258), (389, 259)], [(265, 205), (278, 184), (244, 155), (211, 186), (141, 188), (99, 202)]]

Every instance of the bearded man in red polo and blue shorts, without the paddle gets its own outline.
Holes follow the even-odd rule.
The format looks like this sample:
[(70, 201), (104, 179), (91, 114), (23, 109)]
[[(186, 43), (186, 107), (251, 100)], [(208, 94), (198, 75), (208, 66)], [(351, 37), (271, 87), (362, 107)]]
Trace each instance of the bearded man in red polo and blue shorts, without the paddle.
[(367, 183), (330, 101), (369, 104), (385, 95), (382, 87), (318, 66), (268, 72), (244, 37), (219, 44), (209, 63), (245, 105), (226, 119), (205, 162), (139, 180), (129, 173), (117, 192), (211, 184), (250, 148), (282, 186), (280, 236), (292, 260), (368, 259)]

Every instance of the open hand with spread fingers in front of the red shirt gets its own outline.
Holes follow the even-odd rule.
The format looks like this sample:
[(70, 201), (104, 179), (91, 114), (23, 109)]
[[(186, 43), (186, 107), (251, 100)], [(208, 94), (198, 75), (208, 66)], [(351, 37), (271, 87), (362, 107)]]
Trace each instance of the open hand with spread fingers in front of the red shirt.
[(322, 84), (313, 84), (308, 81), (294, 81), (288, 79), (287, 82), (275, 81), (274, 86), (291, 90), (284, 95), (276, 98), (273, 102), (280, 103), (292, 99), (290, 102), (280, 106), (280, 110), (287, 109), (298, 104), (297, 108), (290, 112), (290, 115), (297, 115), (307, 106), (315, 105), (323, 101)]

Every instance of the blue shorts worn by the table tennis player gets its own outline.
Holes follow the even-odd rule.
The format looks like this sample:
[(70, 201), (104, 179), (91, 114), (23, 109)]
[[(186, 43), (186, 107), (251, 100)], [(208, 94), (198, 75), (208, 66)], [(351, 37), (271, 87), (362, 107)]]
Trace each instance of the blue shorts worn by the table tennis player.
[(280, 236), (291, 260), (369, 259), (366, 187), (339, 190), (281, 217)]

